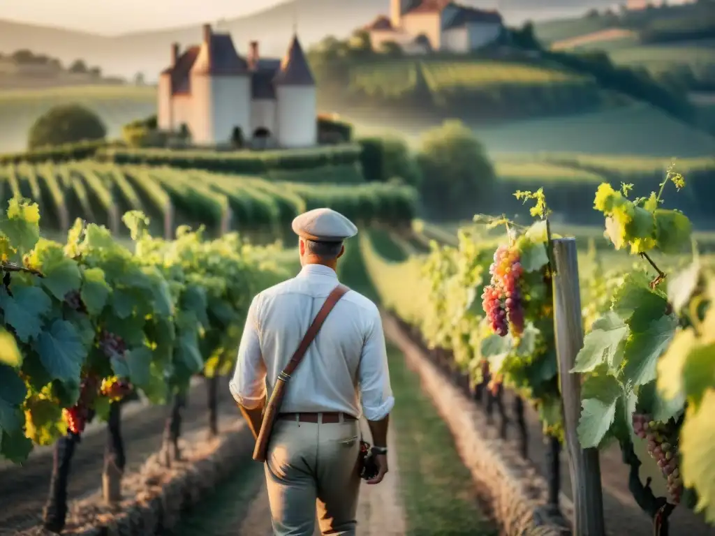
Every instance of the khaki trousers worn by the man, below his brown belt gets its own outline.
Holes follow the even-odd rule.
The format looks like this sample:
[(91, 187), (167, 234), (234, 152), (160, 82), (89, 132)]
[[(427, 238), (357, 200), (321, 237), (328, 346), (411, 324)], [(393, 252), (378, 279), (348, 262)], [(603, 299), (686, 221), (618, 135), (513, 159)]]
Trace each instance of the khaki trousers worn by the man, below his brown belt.
[(318, 424), (277, 420), (265, 475), (276, 536), (355, 536), (360, 476), (357, 420)]

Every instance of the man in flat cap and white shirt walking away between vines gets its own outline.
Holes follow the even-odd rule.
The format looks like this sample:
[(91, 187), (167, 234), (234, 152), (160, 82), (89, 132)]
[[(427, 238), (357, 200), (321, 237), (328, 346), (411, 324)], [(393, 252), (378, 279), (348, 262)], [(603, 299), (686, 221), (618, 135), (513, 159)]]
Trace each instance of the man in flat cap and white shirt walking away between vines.
[[(355, 225), (315, 209), (292, 228), (302, 269), (253, 299), (230, 389), (257, 437), (254, 458), (265, 460), (275, 534), (312, 536), (317, 507), (322, 534), (355, 535), (361, 471), (368, 484), (388, 472), (395, 400), (383, 325), (373, 302), (337, 280)], [(370, 463), (361, 413), (373, 436)]]

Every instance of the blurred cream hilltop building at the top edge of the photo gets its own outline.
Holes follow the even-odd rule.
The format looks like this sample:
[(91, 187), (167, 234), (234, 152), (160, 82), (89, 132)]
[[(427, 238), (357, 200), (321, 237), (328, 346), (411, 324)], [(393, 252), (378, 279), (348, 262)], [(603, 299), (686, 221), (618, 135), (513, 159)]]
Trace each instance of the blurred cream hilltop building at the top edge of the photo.
[(408, 53), (469, 52), (497, 41), (504, 30), (497, 11), (452, 0), (390, 0), (390, 17), (378, 16), (365, 30), (375, 48), (394, 41)]

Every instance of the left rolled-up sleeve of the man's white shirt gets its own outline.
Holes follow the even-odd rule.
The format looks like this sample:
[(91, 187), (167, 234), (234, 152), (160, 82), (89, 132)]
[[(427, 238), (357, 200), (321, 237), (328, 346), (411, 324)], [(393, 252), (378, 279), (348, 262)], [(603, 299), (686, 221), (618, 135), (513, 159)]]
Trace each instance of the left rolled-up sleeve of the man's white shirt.
[(238, 347), (236, 369), (229, 382), (231, 394), (247, 410), (254, 410), (266, 395), (266, 366), (261, 354), (259, 326), (257, 322), (259, 296), (248, 308), (246, 324)]

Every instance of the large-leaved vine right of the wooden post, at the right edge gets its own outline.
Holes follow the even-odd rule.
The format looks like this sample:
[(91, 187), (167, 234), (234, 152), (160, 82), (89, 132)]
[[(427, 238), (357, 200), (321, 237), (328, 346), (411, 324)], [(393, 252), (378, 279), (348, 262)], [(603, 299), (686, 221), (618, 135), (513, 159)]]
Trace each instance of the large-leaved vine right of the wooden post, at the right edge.
[[(678, 190), (685, 186), (671, 168), (659, 191), (649, 197), (629, 199), (628, 184), (619, 190), (610, 184), (598, 187), (594, 208), (605, 217), (606, 237), (615, 249), (628, 249), (644, 262), (598, 282), (604, 284), (607, 307), (593, 319), (572, 371), (585, 375), (578, 426), (581, 445), (603, 447), (617, 440), (624, 459), (636, 464), (633, 467), (655, 463), (662, 472), (669, 507), (656, 499), (650, 482), (631, 485), (656, 530), (681, 503), (696, 506), (715, 521), (715, 475), (704, 471), (706, 455), (715, 456), (706, 445), (711, 442), (705, 440), (715, 426), (699, 413), (704, 397), (715, 392), (715, 377), (701, 375), (696, 389), (686, 381), (688, 365), (690, 374), (702, 374), (699, 367), (708, 366), (708, 359), (715, 362), (707, 339), (713, 332), (699, 329), (714, 294), (708, 294), (711, 275), (697, 257), (675, 277), (656, 259), (661, 254), (667, 262), (668, 255), (691, 244), (689, 219), (662, 207), (668, 184)], [(711, 405), (708, 411), (713, 409)], [(641, 449), (647, 457), (635, 460), (633, 451)]]

